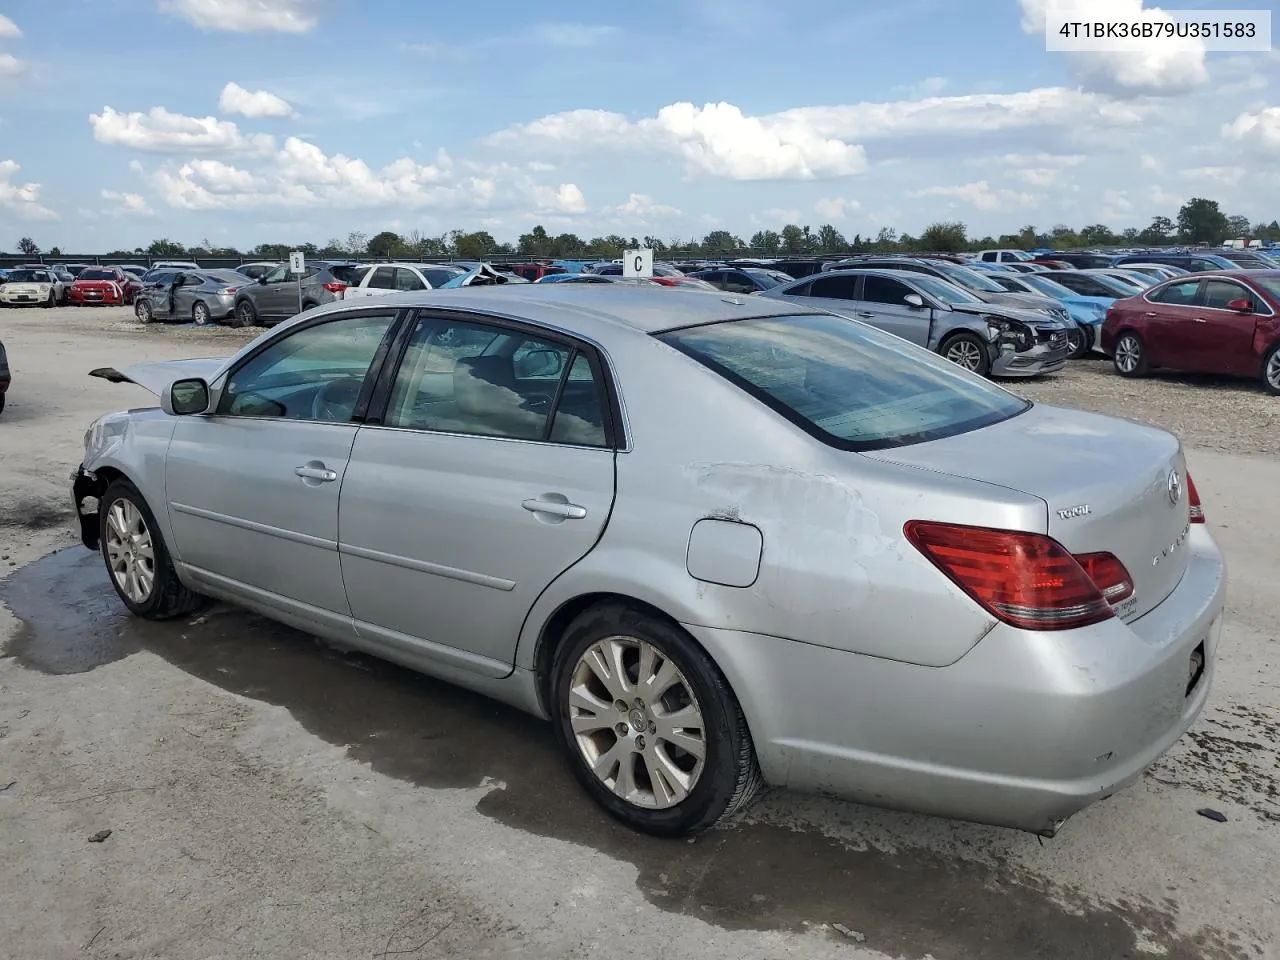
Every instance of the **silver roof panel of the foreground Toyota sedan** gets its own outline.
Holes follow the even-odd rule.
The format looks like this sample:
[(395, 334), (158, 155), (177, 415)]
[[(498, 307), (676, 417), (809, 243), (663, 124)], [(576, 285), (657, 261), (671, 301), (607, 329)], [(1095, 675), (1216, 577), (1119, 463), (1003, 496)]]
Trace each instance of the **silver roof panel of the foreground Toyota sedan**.
[[(618, 326), (641, 333), (659, 333), (723, 320), (826, 312), (796, 306), (788, 301), (733, 297), (721, 291), (675, 291), (658, 284), (635, 287), (612, 283), (499, 284), (447, 291), (408, 291), (375, 300), (383, 308), (394, 303), (401, 307), (465, 310), (529, 320), (582, 337), (593, 337), (596, 332)], [(343, 312), (351, 306), (349, 301), (337, 301), (320, 310)], [(300, 316), (312, 315), (312, 311), (307, 311)]]

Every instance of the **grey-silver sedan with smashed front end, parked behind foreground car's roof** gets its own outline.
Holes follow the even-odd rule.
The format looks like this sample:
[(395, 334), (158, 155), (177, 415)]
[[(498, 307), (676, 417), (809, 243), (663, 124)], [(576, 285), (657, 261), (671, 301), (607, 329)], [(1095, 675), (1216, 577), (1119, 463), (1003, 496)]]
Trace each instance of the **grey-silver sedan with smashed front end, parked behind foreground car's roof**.
[(831, 270), (756, 296), (829, 310), (941, 353), (982, 376), (1038, 376), (1066, 366), (1068, 326), (984, 303), (946, 280), (904, 270)]

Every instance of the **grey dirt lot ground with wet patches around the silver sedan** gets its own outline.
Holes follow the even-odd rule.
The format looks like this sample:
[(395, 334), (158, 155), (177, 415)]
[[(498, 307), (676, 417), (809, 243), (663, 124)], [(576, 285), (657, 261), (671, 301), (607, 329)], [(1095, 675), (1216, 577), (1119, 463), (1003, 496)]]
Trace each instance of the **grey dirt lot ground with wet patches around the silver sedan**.
[(536, 721), (234, 609), (123, 614), (68, 472), (150, 399), (84, 374), (252, 333), (0, 312), (0, 956), (1280, 956), (1280, 399), (1101, 361), (1015, 384), (1179, 433), (1230, 564), (1210, 707), (1139, 783), (1044, 842), (786, 792), (659, 842)]

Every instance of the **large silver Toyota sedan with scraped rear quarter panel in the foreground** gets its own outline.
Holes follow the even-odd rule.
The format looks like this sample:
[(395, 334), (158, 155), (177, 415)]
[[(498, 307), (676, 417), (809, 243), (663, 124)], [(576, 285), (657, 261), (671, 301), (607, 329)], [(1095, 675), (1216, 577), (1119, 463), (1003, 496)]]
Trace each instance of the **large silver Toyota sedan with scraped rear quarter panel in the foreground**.
[(641, 831), (771, 783), (1052, 836), (1208, 695), (1174, 436), (819, 310), (415, 292), (95, 374), (159, 396), (73, 476), (129, 611), (218, 598), (515, 704)]

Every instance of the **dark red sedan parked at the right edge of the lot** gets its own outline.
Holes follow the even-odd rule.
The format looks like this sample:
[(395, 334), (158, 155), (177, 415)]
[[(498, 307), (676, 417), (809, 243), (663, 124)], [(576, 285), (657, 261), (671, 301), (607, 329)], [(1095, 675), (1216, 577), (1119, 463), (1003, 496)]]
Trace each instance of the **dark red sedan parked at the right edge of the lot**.
[(1280, 396), (1280, 270), (1176, 276), (1117, 300), (1101, 347), (1121, 376), (1155, 367), (1234, 374)]

